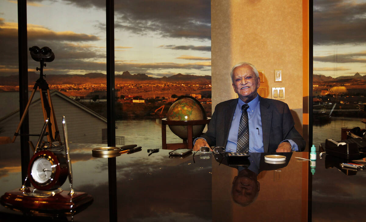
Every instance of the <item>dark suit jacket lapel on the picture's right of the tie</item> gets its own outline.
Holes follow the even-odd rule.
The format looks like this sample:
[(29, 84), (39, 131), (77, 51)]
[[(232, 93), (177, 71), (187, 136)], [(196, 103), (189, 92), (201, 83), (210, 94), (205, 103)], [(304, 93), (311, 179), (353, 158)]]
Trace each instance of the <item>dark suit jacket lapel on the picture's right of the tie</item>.
[(269, 146), (269, 134), (272, 125), (272, 110), (269, 108), (269, 103), (266, 99), (259, 97), (259, 106), (261, 110), (261, 122), (262, 122), (262, 133), (263, 133), (263, 149), (264, 152), (268, 152)]

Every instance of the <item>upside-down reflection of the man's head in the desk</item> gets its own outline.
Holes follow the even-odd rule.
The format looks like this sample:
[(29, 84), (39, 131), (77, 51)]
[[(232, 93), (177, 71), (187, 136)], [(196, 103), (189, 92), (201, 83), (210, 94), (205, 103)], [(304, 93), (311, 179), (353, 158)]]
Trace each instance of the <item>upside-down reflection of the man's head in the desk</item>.
[(259, 187), (257, 175), (249, 169), (243, 169), (232, 181), (232, 198), (236, 203), (247, 206), (258, 196)]

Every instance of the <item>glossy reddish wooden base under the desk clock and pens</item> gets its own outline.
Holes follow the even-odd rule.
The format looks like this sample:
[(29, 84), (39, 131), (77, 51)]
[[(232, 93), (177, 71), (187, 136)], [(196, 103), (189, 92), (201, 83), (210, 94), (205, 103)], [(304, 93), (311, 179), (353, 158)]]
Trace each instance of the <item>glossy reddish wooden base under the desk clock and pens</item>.
[(93, 202), (93, 197), (85, 192), (75, 192), (72, 198), (69, 192), (60, 188), (54, 191), (39, 191), (33, 187), (21, 191), (18, 188), (1, 196), (0, 203), (23, 213), (75, 215)]

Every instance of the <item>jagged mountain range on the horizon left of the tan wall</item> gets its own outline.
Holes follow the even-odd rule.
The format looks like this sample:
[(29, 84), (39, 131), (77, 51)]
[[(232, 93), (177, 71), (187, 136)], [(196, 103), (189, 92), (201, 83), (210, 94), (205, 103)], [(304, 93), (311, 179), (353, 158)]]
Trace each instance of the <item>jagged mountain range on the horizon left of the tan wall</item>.
[[(28, 72), (28, 84), (31, 85), (39, 79), (40, 74), (35, 72)], [(86, 73), (86, 74), (75, 74), (75, 75), (67, 75), (67, 74), (54, 74), (54, 75), (46, 75), (44, 79), (49, 84), (85, 84), (85, 83), (105, 83), (107, 79), (107, 75), (103, 73)], [(211, 81), (211, 76), (196, 76), (196, 75), (183, 75), (181, 73), (169, 76), (169, 77), (160, 77), (153, 78), (147, 76), (143, 73), (131, 74), (128, 71), (123, 72), (121, 75), (115, 75), (115, 82), (122, 81), (133, 81), (133, 80), (150, 80), (150, 81)], [(0, 76), (1, 85), (18, 85), (19, 84), (19, 76)]]

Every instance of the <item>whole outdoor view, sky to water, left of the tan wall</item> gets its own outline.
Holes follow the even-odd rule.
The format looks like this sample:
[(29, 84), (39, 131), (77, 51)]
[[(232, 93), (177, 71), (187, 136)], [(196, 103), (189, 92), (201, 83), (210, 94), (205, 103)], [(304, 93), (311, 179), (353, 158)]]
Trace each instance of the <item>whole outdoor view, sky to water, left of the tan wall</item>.
[[(0, 4), (5, 51), (0, 60), (0, 134), (12, 136), (19, 122), (17, 4)], [(211, 115), (210, 1), (116, 0), (114, 10), (116, 136), (131, 144), (139, 138), (145, 141), (143, 132), (154, 131), (157, 139), (151, 146), (161, 146), (156, 119), (166, 116), (177, 97), (197, 98)], [(105, 142), (105, 28), (105, 1), (27, 1), (28, 47), (47, 46), (55, 54), (54, 61), (46, 62), (44, 79), (57, 121), (62, 115), (69, 120), (72, 142)], [(36, 67), (40, 63), (28, 54), (29, 95), (40, 78)], [(29, 110), (31, 133), (43, 125), (39, 94)], [(171, 137), (181, 141), (172, 133)]]

